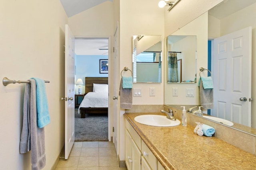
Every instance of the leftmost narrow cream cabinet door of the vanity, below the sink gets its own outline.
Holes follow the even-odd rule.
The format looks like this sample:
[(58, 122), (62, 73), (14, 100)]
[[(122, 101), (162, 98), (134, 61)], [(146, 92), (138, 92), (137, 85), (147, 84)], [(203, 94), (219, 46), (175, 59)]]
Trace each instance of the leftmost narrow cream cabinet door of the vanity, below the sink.
[(132, 137), (130, 133), (125, 129), (125, 164), (127, 170), (132, 170)]

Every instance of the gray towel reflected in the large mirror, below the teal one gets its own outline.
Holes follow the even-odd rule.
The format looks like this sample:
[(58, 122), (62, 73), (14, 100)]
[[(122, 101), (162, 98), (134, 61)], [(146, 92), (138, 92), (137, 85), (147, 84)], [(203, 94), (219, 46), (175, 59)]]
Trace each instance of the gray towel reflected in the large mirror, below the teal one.
[(202, 81), (200, 81), (200, 102), (204, 109), (213, 108), (213, 89), (204, 89)]

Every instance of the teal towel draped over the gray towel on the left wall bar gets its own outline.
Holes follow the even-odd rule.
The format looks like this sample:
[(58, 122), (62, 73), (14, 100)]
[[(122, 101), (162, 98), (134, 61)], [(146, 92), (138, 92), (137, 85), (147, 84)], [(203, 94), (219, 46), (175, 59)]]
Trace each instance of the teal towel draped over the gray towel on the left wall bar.
[(46, 96), (45, 82), (40, 78), (32, 78), (36, 81), (36, 108), (37, 124), (39, 128), (50, 123), (48, 101)]

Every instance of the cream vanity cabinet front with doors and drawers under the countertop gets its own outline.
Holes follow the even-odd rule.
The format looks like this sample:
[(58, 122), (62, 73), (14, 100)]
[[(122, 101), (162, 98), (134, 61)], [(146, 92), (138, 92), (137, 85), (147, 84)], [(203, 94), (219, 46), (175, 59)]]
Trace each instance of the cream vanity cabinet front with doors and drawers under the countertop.
[(158, 160), (126, 120), (125, 163), (128, 170), (158, 170)]

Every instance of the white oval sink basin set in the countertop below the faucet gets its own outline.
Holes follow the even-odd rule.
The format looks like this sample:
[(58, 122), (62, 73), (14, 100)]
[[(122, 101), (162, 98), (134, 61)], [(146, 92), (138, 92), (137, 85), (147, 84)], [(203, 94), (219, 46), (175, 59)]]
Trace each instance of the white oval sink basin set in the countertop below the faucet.
[(180, 124), (180, 121), (178, 119), (176, 119), (176, 121), (173, 121), (167, 119), (166, 116), (162, 115), (139, 115), (136, 116), (134, 120), (144, 125), (159, 127), (178, 126)]

